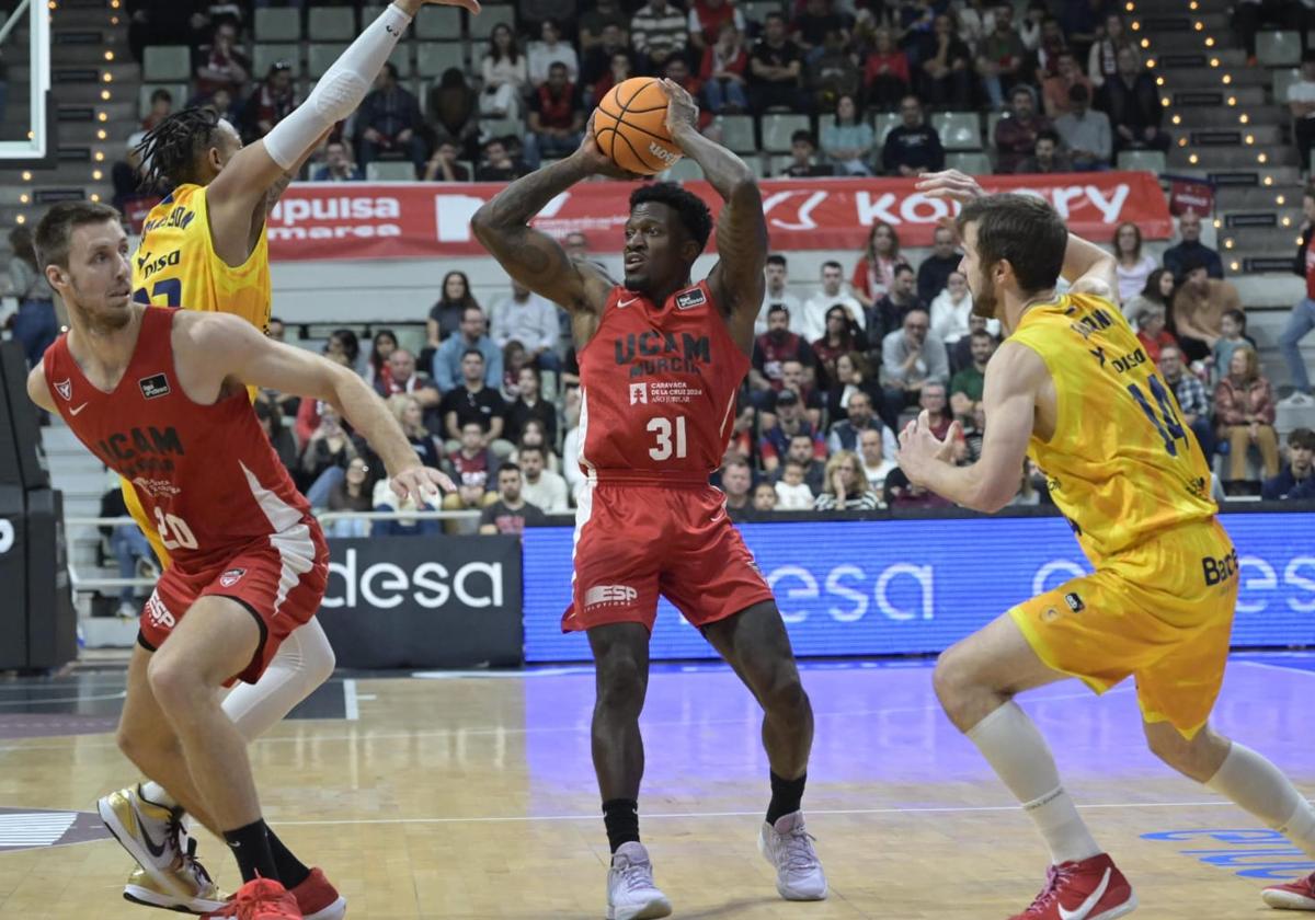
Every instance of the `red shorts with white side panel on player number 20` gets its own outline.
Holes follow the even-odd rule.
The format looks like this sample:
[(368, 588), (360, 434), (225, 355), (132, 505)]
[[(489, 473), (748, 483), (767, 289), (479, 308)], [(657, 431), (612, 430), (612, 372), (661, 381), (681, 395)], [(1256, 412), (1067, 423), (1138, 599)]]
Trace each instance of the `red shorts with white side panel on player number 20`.
[(260, 624), (260, 647), (235, 679), (255, 683), (279, 645), (320, 610), (329, 584), (329, 544), (313, 518), (237, 549), (224, 563), (183, 572), (172, 565), (155, 582), (141, 618), (139, 641), (155, 651), (199, 598), (226, 597)]

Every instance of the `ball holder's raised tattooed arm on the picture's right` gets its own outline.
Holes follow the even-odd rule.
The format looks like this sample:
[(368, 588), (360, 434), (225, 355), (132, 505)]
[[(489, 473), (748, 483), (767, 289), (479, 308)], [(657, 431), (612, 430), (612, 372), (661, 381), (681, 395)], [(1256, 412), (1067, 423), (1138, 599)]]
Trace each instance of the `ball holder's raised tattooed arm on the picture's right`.
[(757, 317), (767, 268), (767, 218), (757, 180), (744, 160), (698, 133), (698, 106), (684, 87), (672, 80), (663, 80), (660, 85), (667, 93), (667, 130), (672, 141), (698, 163), (726, 201), (717, 216), (719, 260), (707, 284), (732, 314)]

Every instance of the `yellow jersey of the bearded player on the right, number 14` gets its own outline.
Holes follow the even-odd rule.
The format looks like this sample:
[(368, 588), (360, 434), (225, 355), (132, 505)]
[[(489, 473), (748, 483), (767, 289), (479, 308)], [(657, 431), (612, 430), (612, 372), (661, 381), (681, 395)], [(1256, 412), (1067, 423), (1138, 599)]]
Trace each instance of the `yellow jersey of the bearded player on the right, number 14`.
[(1118, 306), (1065, 294), (1027, 310), (1010, 340), (1055, 381), (1055, 434), (1027, 452), (1093, 565), (1216, 514), (1201, 446)]

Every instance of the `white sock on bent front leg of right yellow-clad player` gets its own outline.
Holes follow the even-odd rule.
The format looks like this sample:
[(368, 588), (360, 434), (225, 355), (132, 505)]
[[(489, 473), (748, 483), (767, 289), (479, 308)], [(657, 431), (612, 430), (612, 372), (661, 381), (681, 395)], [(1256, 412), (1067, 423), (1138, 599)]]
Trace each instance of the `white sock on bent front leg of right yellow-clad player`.
[(1018, 703), (1010, 701), (988, 715), (968, 729), (968, 739), (1023, 803), (1052, 861), (1076, 862), (1102, 852), (1060, 785), (1045, 739)]

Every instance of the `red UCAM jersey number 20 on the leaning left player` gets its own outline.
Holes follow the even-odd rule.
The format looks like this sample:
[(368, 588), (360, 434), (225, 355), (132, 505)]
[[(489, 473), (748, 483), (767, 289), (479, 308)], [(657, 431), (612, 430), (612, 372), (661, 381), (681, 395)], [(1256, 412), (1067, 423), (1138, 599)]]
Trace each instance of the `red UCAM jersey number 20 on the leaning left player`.
[[(246, 390), (192, 402), (175, 372), (178, 310), (147, 308), (113, 393), (93, 386), (68, 351), (46, 351), (46, 385), (64, 423), (101, 463), (133, 482), (146, 515), (184, 574), (302, 523), (310, 506), (260, 428)], [(277, 547), (277, 544), (275, 544)]]

